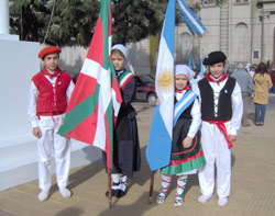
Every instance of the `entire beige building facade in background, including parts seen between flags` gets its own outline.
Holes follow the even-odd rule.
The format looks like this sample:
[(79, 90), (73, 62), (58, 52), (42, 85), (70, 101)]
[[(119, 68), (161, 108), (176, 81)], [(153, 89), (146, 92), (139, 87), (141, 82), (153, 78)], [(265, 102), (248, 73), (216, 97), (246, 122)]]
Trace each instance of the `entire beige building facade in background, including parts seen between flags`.
[[(237, 62), (275, 62), (275, 0), (186, 0), (194, 9), (207, 33), (194, 37), (185, 23), (175, 30), (175, 64), (188, 64), (190, 54), (197, 67), (200, 58), (213, 50), (228, 56), (228, 66)], [(128, 44), (130, 59), (138, 75), (155, 73), (158, 36)], [(68, 72), (80, 70), (87, 50), (63, 52), (62, 65)], [(73, 52), (73, 53), (72, 53)], [(79, 54), (80, 52), (80, 54)], [(82, 55), (84, 54), (84, 55)]]

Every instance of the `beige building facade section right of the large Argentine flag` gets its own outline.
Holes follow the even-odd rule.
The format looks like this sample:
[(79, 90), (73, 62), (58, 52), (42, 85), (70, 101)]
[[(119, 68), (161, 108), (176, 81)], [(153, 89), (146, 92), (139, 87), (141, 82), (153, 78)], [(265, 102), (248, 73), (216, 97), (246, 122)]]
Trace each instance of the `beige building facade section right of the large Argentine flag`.
[(187, 62), (190, 53), (199, 58), (212, 50), (222, 50), (228, 62), (258, 64), (275, 61), (275, 1), (224, 0), (220, 7), (215, 0), (187, 1), (208, 30), (204, 37), (194, 37), (184, 23), (177, 26), (178, 62)]

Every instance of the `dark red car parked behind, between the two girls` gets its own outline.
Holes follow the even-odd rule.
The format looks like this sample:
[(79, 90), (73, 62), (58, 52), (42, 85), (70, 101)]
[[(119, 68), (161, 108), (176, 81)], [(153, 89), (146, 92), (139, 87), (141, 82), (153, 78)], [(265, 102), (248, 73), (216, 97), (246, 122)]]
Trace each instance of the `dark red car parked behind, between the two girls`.
[(136, 100), (146, 100), (148, 103), (155, 103), (155, 78), (152, 75), (136, 76)]

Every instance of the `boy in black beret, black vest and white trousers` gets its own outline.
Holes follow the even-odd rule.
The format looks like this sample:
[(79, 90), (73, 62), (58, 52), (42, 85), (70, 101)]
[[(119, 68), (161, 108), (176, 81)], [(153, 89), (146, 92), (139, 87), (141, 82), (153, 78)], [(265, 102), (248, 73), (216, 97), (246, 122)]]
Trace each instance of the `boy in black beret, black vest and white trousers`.
[(242, 94), (235, 79), (223, 71), (227, 56), (212, 52), (204, 60), (208, 73), (198, 82), (201, 104), (201, 144), (207, 164), (199, 172), (200, 203), (213, 194), (217, 166), (218, 204), (228, 203), (231, 185), (231, 148), (242, 121)]

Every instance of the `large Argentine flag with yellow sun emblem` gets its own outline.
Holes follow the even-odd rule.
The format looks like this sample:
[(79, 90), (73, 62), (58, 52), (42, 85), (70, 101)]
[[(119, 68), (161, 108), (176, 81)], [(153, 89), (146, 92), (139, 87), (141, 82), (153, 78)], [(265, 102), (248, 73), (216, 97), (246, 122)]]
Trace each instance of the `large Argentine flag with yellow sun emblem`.
[(158, 47), (156, 66), (156, 93), (161, 104), (155, 107), (146, 159), (152, 171), (170, 162), (174, 118), (174, 41), (176, 0), (169, 0)]

